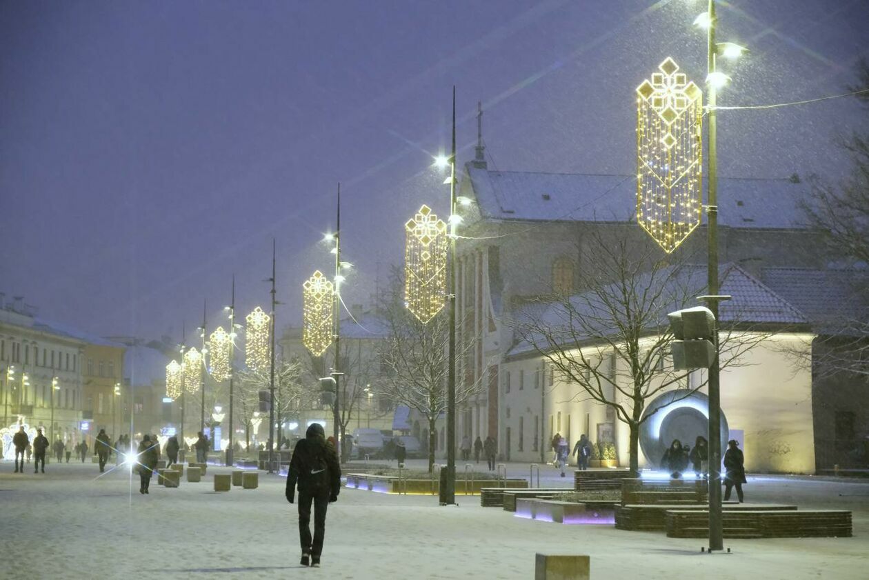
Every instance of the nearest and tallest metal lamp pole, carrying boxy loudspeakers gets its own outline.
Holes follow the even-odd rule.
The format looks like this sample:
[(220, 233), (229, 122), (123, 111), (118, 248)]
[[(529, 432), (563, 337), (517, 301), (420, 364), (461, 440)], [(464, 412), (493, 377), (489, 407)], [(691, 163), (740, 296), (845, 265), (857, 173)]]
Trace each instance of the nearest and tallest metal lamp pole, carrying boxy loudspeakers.
[[(715, 72), (715, 0), (709, 0), (709, 33), (707, 43), (707, 72)], [(708, 77), (707, 77), (708, 78)], [(706, 225), (709, 235), (709, 257), (707, 270), (708, 293), (718, 295), (718, 149), (715, 111), (715, 85), (706, 81), (709, 109), (709, 194), (706, 205)], [(718, 300), (707, 303), (715, 317), (713, 342), (715, 357), (709, 369), (709, 550), (723, 550), (724, 540), (721, 529), (721, 401), (720, 401), (720, 362), (718, 343)]]

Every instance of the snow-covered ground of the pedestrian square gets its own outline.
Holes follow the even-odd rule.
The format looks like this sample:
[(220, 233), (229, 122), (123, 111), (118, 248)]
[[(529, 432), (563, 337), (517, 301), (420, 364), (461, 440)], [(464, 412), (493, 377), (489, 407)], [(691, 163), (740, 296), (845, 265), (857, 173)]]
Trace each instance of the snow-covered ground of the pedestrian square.
[[(420, 462), (421, 464), (421, 462)], [(460, 463), (459, 469), (463, 469)], [(328, 512), (320, 570), (301, 570), (295, 505), (285, 479), (261, 472), (258, 490), (176, 490), (95, 464), (47, 466), (45, 475), (12, 473), (0, 463), (2, 578), (533, 578), (534, 553), (589, 554), (592, 577), (865, 578), (869, 570), (869, 481), (752, 477), (751, 502), (853, 510), (852, 538), (728, 540), (732, 554), (700, 553), (702, 540), (609, 526), (565, 526), (483, 509), (478, 497), (439, 507), (428, 496), (342, 490)], [(511, 464), (526, 476), (527, 464)], [(544, 468), (543, 484), (569, 486)]]

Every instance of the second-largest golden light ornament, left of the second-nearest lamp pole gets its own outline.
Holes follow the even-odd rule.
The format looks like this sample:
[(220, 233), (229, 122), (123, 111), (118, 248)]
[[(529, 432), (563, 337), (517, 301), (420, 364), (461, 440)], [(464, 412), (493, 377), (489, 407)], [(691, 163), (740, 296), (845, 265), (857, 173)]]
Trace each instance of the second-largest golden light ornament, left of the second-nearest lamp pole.
[(423, 205), (404, 224), (404, 302), (421, 323), (447, 299), (447, 224)]

